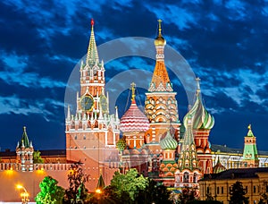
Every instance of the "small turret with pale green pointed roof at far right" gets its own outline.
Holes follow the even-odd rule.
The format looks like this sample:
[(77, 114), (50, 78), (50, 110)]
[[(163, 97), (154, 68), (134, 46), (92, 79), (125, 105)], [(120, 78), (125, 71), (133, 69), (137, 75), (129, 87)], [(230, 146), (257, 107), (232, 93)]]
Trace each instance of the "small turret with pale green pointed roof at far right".
[(258, 167), (259, 158), (258, 158), (256, 144), (255, 144), (255, 136), (251, 130), (251, 124), (248, 125), (247, 129), (248, 129), (248, 132), (247, 132), (247, 136), (245, 137), (242, 166)]

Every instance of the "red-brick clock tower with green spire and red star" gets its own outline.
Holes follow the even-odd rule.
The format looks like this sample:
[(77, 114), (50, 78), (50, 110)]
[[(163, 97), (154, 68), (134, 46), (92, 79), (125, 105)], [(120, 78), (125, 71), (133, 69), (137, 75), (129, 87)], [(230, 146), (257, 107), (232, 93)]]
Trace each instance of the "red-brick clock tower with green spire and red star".
[[(88, 53), (80, 64), (80, 93), (77, 92), (77, 106), (74, 115), (68, 106), (66, 118), (66, 157), (68, 161), (84, 163), (92, 180), (88, 189), (96, 186), (100, 172), (107, 181), (117, 170), (115, 160), (118, 151), (119, 118), (109, 114), (109, 97), (105, 95), (105, 67), (99, 62), (91, 20), (91, 34)], [(107, 167), (108, 166), (108, 167)]]

